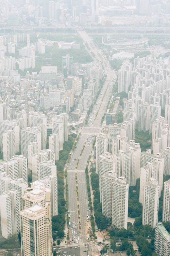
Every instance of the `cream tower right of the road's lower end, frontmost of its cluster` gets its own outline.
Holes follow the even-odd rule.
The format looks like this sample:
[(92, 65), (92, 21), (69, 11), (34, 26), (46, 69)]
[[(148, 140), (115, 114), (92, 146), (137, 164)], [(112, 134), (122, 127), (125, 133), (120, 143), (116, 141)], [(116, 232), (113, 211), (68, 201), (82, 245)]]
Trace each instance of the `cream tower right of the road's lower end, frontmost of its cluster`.
[(129, 185), (126, 184), (126, 179), (124, 177), (116, 178), (112, 190), (112, 226), (119, 230), (127, 229)]

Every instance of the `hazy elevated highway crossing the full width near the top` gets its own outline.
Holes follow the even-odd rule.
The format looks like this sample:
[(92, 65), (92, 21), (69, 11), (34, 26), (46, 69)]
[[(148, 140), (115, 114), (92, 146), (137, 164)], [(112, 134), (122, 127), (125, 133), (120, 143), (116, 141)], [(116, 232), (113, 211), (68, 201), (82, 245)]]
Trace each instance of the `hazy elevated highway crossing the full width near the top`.
[(126, 26), (15, 26), (0, 27), (0, 34), (45, 33), (45, 34), (75, 34), (77, 30), (84, 30), (87, 34), (120, 34), (120, 35), (170, 35), (170, 27), (126, 27)]

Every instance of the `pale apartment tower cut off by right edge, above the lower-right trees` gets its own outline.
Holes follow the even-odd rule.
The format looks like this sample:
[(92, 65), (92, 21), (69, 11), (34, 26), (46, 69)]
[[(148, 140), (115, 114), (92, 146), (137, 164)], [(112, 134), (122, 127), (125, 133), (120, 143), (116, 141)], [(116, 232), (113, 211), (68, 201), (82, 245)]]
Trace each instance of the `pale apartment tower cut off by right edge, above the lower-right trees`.
[(170, 180), (164, 182), (164, 200), (162, 221), (170, 222)]

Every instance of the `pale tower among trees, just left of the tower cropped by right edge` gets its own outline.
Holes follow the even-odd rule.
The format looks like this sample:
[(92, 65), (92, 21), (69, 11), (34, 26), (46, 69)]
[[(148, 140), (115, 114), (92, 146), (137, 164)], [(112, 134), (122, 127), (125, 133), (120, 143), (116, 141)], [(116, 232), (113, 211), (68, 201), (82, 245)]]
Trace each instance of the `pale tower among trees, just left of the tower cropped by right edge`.
[(151, 228), (157, 225), (159, 189), (158, 182), (153, 178), (144, 185), (142, 225), (149, 225)]

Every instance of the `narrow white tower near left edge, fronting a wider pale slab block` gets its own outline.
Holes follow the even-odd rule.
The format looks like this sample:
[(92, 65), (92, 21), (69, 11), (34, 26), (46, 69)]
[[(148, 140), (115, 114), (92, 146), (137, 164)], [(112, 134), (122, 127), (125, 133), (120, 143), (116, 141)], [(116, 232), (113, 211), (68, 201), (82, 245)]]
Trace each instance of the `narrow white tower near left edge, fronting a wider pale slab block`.
[(10, 160), (15, 155), (15, 133), (13, 130), (3, 132), (3, 159)]

